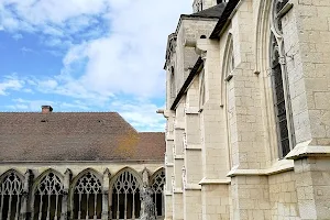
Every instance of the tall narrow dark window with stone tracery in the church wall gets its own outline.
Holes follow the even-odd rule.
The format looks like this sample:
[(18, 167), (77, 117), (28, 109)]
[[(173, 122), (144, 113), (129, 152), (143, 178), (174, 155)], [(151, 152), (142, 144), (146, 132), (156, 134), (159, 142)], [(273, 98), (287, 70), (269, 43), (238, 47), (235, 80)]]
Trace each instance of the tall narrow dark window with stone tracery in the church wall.
[(271, 68), (274, 106), (278, 130), (279, 157), (285, 157), (294, 146), (294, 129), (290, 120), (290, 99), (287, 82), (286, 59), (279, 12), (288, 0), (275, 0), (273, 4), (271, 35)]

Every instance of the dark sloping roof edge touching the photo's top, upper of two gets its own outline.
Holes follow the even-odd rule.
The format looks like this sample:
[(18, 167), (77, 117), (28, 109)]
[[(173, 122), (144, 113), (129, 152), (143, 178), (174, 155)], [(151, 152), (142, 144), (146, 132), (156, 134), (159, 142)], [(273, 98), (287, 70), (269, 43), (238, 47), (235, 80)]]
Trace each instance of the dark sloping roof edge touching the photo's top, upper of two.
[(215, 26), (213, 32), (210, 35), (210, 38), (219, 38), (222, 29), (226, 26), (231, 13), (234, 11), (239, 2), (240, 0), (230, 0), (227, 3), (217, 25)]

